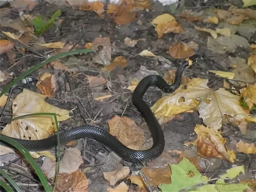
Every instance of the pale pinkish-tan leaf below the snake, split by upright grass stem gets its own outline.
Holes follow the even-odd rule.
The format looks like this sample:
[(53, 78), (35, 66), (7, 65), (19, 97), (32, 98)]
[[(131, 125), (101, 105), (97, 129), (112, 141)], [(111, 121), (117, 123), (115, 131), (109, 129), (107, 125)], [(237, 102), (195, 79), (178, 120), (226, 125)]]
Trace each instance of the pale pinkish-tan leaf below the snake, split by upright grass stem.
[[(83, 163), (81, 152), (77, 148), (70, 147), (65, 150), (63, 158), (59, 161), (59, 174), (71, 174), (78, 170)], [(56, 162), (48, 157), (45, 157), (42, 164), (42, 171), (48, 179), (55, 175)]]

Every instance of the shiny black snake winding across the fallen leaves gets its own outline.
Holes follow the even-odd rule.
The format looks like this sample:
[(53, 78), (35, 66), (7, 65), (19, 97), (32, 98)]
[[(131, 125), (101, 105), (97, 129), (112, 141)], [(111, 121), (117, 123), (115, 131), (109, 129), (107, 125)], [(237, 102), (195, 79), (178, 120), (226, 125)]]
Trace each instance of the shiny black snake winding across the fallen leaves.
[[(191, 61), (193, 62), (196, 62), (198, 58), (198, 55), (190, 57)], [(145, 163), (159, 157), (165, 147), (163, 131), (150, 107), (145, 103), (145, 101), (143, 101), (142, 98), (146, 90), (152, 85), (157, 86), (165, 93), (172, 93), (181, 85), (182, 73), (187, 66), (188, 61), (184, 61), (177, 68), (175, 80), (172, 85), (167, 84), (166, 81), (159, 75), (149, 75), (144, 77), (139, 82), (132, 94), (133, 105), (137, 108), (137, 110), (141, 113), (142, 117), (145, 119), (145, 122), (147, 123), (147, 126), (149, 127), (149, 130), (151, 132), (151, 136), (153, 138), (153, 145), (150, 149), (143, 151), (130, 149), (123, 145), (116, 137), (111, 135), (109, 132), (91, 125), (82, 125), (60, 133), (59, 138), (61, 145), (65, 145), (68, 142), (87, 137), (92, 138), (99, 143), (102, 143), (103, 145), (109, 147), (126, 162)], [(24, 140), (17, 138), (12, 139), (20, 143), (28, 151), (42, 151), (57, 146), (56, 135), (41, 140)]]

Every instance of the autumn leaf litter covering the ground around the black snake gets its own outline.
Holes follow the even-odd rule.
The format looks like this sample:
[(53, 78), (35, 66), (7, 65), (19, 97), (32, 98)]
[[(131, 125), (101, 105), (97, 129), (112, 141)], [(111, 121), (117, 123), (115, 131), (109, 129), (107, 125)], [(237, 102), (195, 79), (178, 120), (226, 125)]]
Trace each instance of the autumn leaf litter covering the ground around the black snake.
[[(129, 100), (130, 93), (149, 74), (161, 75), (168, 83), (173, 83), (175, 61), (195, 53), (202, 54), (205, 59), (186, 69), (182, 85), (174, 93), (161, 94), (149, 88), (145, 94), (144, 99), (158, 118), (164, 134), (175, 133), (175, 138), (172, 143), (166, 143), (159, 158), (139, 171), (144, 175), (118, 165), (109, 166), (103, 173), (97, 163), (107, 165), (107, 162), (97, 159), (97, 153), (109, 151), (86, 139), (84, 143), (77, 142), (78, 148), (65, 150), (60, 162), (58, 191), (88, 191), (90, 186), (97, 186), (97, 183), (92, 184), (94, 181), (101, 181), (98, 186), (102, 188), (93, 191), (147, 191), (149, 186), (162, 191), (184, 188), (188, 191), (253, 191), (255, 177), (250, 180), (248, 175), (255, 167), (248, 165), (255, 164), (255, 159), (246, 156), (239, 161), (245, 154), (255, 154), (255, 137), (250, 134), (255, 132), (256, 110), (255, 39), (252, 38), (255, 7), (251, 2), (243, 1), (243, 7), (222, 2), (216, 8), (217, 2), (207, 1), (204, 2), (206, 6), (190, 9), (188, 7), (196, 7), (193, 2), (186, 2), (185, 6), (180, 4), (178, 8), (179, 2), (164, 6), (147, 0), (120, 0), (107, 5), (101, 1), (67, 1), (64, 4), (49, 1), (40, 4), (43, 5), (41, 10), (37, 2), (22, 2), (11, 2), (10, 9), (29, 10), (26, 14), (19, 12), (10, 17), (13, 12), (6, 11), (1, 17), (1, 30), (5, 32), (0, 44), (4, 60), (1, 87), (12, 78), (11, 75), (19, 75), (19, 70), (25, 71), (34, 65), (37, 59), (34, 56), (49, 57), (83, 47), (94, 49), (97, 54), (70, 56), (33, 72), (35, 83), (23, 81), (19, 85), (19, 89), (23, 89), (21, 93), (14, 87), (7, 103), (7, 94), (1, 97), (3, 114), (12, 110), (12, 118), (40, 112), (58, 113), (61, 131), (89, 122), (103, 129), (108, 127), (109, 132), (127, 147), (149, 149), (152, 145), (149, 131), (135, 112)], [(169, 11), (172, 6), (180, 10)], [(66, 9), (71, 12), (65, 12)], [(72, 22), (67, 22), (66, 14), (71, 14)], [(22, 61), (15, 64), (20, 54)], [(217, 60), (220, 56), (225, 58), (222, 63)], [(17, 67), (9, 69), (10, 65)], [(216, 84), (218, 79), (220, 84)], [(223, 82), (226, 82), (225, 88)], [(105, 103), (118, 103), (118, 109), (108, 109), (109, 115), (105, 116), (106, 113), (101, 113)], [(71, 111), (75, 115), (72, 118)], [(122, 112), (116, 114), (116, 111)], [(53, 123), (50, 117), (18, 119), (4, 124), (1, 133), (22, 139), (41, 139), (56, 131)], [(1, 156), (4, 153), (14, 152), (1, 147)], [(45, 156), (42, 169), (52, 181), (55, 156), (50, 151), (31, 155), (37, 161)], [(221, 171), (218, 159), (228, 165), (220, 168)], [(5, 159), (5, 162), (8, 161)], [(92, 167), (83, 169), (87, 163)], [(218, 178), (213, 178), (212, 172)], [(236, 183), (226, 182), (225, 177)], [(211, 179), (217, 180), (216, 184), (207, 184)], [(31, 187), (31, 191), (39, 190)]]

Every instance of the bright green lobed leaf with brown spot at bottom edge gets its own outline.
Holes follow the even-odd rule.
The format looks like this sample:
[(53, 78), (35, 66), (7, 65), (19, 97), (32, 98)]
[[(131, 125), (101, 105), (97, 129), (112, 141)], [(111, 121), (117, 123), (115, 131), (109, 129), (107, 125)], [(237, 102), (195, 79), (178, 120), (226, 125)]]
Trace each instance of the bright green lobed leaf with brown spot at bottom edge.
[(177, 192), (183, 188), (191, 187), (208, 180), (208, 178), (202, 176), (197, 168), (186, 158), (183, 158), (178, 165), (169, 165), (171, 167), (171, 184), (161, 183), (158, 187), (162, 192)]

